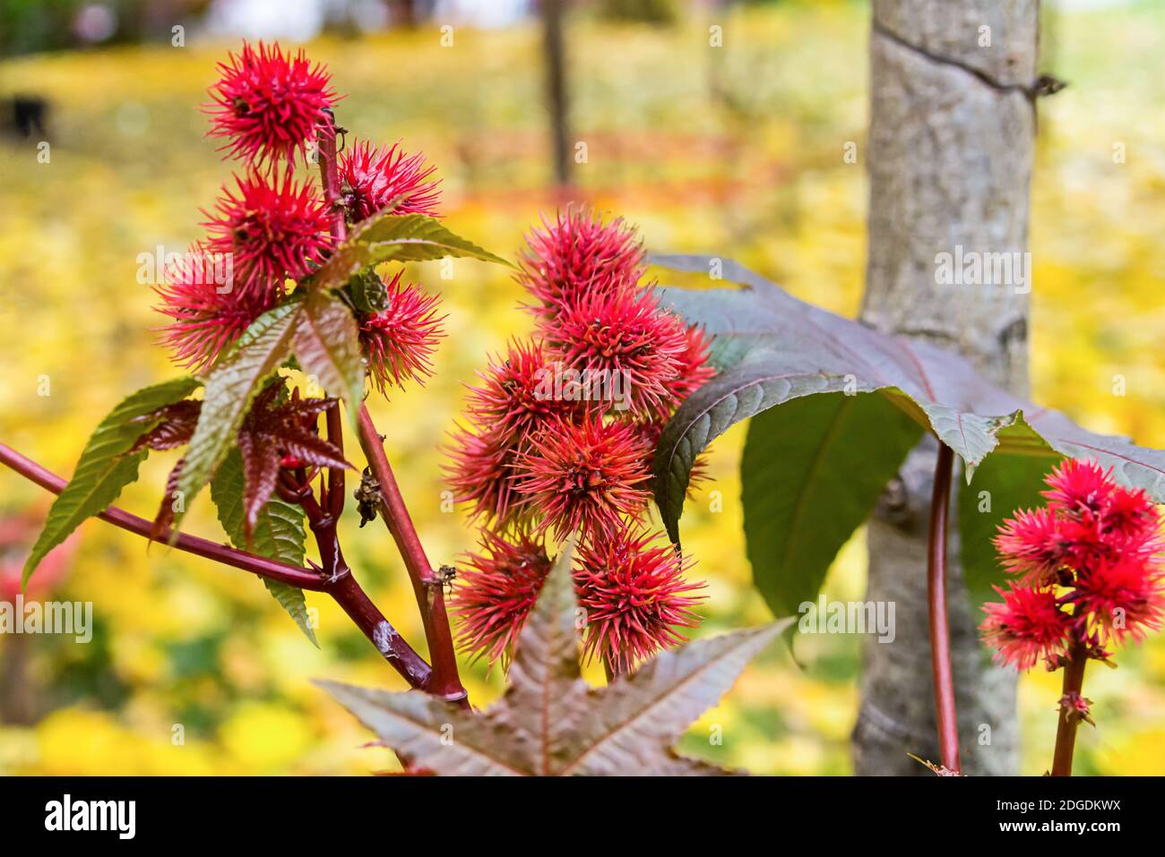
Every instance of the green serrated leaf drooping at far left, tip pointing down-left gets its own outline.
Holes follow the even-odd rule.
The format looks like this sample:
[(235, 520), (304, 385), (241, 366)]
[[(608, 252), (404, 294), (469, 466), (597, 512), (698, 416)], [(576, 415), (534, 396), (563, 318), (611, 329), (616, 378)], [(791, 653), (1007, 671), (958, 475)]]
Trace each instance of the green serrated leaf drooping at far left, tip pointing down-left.
[(85, 445), (72, 479), (49, 509), (44, 529), (24, 562), (22, 585), (49, 551), (64, 541), (85, 518), (105, 511), (121, 489), (137, 479), (137, 467), (148, 449), (132, 454), (129, 449), (156, 423), (133, 420), (184, 399), (199, 383), (197, 378), (183, 377), (147, 387), (128, 396), (101, 420)]

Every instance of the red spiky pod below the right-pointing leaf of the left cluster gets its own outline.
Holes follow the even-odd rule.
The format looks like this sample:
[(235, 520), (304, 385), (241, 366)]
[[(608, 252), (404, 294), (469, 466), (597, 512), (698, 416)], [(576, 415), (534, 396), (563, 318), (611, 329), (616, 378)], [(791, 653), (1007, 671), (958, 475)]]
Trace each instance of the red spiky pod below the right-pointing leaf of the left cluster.
[(424, 384), (432, 375), (432, 355), (444, 331), (438, 299), (418, 285), (401, 283), (403, 270), (386, 283), (384, 309), (360, 319), (360, 343), (376, 389), (402, 387), (411, 378)]

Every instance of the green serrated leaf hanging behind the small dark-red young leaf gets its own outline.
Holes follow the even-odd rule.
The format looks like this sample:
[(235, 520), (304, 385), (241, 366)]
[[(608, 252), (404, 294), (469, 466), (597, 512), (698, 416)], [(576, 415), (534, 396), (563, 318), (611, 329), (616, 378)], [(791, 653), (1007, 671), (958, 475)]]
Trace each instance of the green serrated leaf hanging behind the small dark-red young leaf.
[[(211, 481), (211, 500), (218, 510), (219, 523), (231, 544), (240, 550), (246, 547), (243, 532), (243, 474), (242, 456), (231, 449)], [(303, 529), (303, 511), (299, 507), (282, 500), (269, 500), (259, 514), (252, 533), (249, 550), (268, 559), (276, 559), (294, 566), (302, 566), (306, 533)], [(308, 602), (299, 587), (263, 578), (263, 586), (275, 596), (288, 615), (299, 626), (317, 649), (316, 632), (308, 618)]]

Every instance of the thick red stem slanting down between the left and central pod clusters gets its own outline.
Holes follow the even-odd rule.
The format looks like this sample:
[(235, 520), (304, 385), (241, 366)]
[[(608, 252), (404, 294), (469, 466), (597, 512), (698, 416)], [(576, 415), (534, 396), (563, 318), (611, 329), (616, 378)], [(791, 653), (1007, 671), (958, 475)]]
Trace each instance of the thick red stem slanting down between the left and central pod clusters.
[(445, 594), (442, 585), (433, 575), (432, 566), (425, 557), (412, 518), (404, 505), (401, 489), (393, 475), (393, 467), (384, 454), (384, 445), (372, 415), (363, 405), (360, 406), (358, 422), (360, 446), (363, 449), (368, 466), (380, 484), (381, 514), (388, 531), (396, 541), (396, 547), (404, 560), (404, 567), (412, 581), (412, 592), (417, 599), (417, 608), (424, 623), (425, 639), (429, 643), (429, 658), (433, 665), (433, 678), (429, 693), (450, 702), (468, 706), (468, 694), (461, 686), (457, 670), (457, 651), (453, 647), (453, 635), (450, 630), (449, 615), (445, 610)]

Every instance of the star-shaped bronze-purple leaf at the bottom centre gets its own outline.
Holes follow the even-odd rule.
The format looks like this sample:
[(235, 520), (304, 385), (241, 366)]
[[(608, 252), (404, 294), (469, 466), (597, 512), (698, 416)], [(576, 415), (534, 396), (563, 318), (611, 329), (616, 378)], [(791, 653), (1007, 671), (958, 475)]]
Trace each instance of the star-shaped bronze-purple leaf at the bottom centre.
[(386, 745), (437, 774), (729, 773), (672, 744), (793, 619), (687, 643), (591, 688), (579, 673), (571, 560), (566, 547), (522, 629), (509, 689), (482, 714), (424, 694), (317, 684)]

